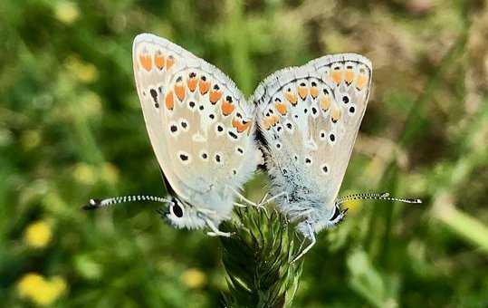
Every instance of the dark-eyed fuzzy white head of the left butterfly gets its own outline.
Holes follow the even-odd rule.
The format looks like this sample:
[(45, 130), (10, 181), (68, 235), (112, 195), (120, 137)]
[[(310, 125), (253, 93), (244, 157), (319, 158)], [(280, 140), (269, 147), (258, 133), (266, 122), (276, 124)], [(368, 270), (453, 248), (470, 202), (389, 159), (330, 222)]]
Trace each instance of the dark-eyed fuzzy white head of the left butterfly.
[(195, 229), (206, 225), (205, 219), (196, 208), (178, 197), (171, 197), (168, 207), (158, 213), (168, 224), (177, 228)]

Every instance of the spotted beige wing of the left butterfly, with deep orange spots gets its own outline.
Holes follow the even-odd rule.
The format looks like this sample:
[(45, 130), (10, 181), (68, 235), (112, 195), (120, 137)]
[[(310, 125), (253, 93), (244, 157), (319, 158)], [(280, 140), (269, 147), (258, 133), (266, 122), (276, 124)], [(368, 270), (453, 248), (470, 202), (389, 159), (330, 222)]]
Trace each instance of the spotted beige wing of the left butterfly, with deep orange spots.
[(178, 197), (228, 215), (257, 164), (254, 107), (223, 72), (153, 34), (139, 34), (133, 64), (149, 139)]

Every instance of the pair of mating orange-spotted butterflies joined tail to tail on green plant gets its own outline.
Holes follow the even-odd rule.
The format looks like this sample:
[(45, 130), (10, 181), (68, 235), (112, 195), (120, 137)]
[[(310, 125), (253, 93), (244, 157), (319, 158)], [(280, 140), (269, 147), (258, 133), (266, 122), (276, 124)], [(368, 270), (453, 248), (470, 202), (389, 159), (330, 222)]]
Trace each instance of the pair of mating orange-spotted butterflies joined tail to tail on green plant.
[[(175, 43), (139, 34), (134, 74), (149, 139), (169, 198), (92, 199), (88, 208), (129, 201), (168, 205), (162, 217), (178, 228), (208, 227), (211, 236), (241, 202), (275, 201), (303, 236), (337, 225), (351, 198), (409, 203), (388, 194), (337, 198), (368, 103), (371, 63), (343, 53), (267, 77), (247, 103), (223, 72)], [(271, 197), (256, 204), (239, 193), (264, 159)], [(299, 255), (299, 257), (301, 256)]]

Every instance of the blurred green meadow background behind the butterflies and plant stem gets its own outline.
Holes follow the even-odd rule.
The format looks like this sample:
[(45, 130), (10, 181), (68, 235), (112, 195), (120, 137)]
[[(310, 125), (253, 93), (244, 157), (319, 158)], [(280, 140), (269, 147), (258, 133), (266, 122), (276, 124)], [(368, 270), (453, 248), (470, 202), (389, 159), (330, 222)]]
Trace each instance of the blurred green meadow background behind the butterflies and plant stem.
[(349, 204), (306, 256), (294, 304), (488, 306), (488, 7), (439, 0), (1, 1), (0, 306), (220, 304), (217, 239), (172, 229), (155, 205), (80, 210), (164, 194), (132, 76), (142, 32), (246, 95), (284, 66), (368, 56), (373, 90), (341, 195), (424, 204)]

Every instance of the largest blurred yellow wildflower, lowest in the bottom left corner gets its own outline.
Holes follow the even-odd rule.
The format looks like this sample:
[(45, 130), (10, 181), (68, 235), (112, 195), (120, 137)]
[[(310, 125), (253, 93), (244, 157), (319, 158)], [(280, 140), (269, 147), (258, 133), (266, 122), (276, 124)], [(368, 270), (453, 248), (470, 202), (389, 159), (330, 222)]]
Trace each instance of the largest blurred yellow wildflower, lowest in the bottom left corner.
[(40, 274), (28, 273), (17, 283), (17, 291), (22, 298), (48, 306), (66, 291), (66, 282), (60, 276), (47, 280)]

